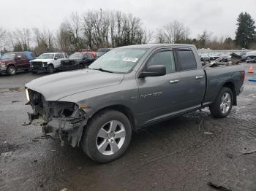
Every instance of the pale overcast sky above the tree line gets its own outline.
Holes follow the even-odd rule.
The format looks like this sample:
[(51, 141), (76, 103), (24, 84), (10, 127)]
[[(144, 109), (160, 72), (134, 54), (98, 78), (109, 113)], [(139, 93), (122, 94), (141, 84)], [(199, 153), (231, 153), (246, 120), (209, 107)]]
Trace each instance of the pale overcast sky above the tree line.
[(144, 26), (154, 30), (178, 20), (196, 37), (204, 29), (212, 36), (235, 36), (236, 18), (249, 12), (256, 20), (255, 0), (5, 0), (1, 1), (0, 27), (49, 28), (56, 30), (72, 12), (119, 10), (140, 17)]

